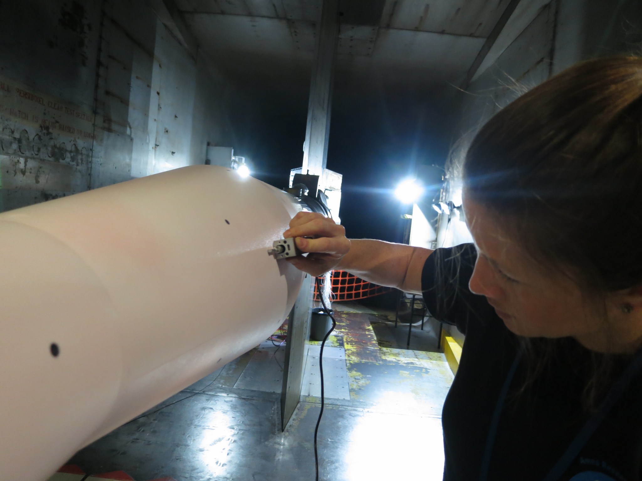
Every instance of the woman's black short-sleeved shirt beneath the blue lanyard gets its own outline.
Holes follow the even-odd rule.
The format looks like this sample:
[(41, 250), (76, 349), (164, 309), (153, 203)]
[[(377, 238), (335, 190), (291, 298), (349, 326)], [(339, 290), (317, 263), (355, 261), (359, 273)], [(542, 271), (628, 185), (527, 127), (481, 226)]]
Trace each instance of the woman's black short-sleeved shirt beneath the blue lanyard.
[[(521, 342), (486, 298), (469, 290), (475, 260), (473, 244), (437, 249), (422, 271), (429, 312), (465, 334), (442, 414), (445, 481), (480, 478), (492, 414)], [(489, 481), (542, 481), (592, 416), (582, 407), (591, 351), (570, 338), (553, 342), (553, 357), (526, 387), (526, 378), (532, 378), (527, 366), (541, 352), (519, 362), (499, 418)], [(620, 364), (615, 378), (625, 366)], [(560, 481), (642, 480), (641, 385), (638, 373)]]

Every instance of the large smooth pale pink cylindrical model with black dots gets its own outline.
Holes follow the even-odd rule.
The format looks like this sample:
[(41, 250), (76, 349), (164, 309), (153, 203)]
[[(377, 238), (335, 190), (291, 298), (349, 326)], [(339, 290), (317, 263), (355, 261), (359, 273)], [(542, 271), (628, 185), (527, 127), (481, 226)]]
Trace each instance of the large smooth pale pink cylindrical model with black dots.
[(295, 200), (195, 165), (0, 214), (0, 479), (73, 453), (266, 339)]

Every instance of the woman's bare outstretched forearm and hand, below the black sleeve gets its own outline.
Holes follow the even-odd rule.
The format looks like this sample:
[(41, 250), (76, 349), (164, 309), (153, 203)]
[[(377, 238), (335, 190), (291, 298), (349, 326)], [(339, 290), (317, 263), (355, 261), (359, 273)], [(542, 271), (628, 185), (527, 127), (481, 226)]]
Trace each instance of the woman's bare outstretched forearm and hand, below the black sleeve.
[(391, 242), (345, 237), (343, 226), (321, 214), (299, 212), (283, 237), (295, 237), (297, 247), (308, 257), (288, 259), (295, 267), (318, 276), (331, 269), (379, 285), (421, 293), (421, 271), (430, 249)]

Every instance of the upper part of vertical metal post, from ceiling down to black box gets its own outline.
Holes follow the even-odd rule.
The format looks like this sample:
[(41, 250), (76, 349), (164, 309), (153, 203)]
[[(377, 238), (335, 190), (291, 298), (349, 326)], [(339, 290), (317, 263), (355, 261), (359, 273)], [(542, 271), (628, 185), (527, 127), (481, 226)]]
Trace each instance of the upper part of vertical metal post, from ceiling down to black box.
[[(323, 0), (317, 37), (317, 55), (310, 82), (306, 141), (303, 145), (302, 172), (304, 174), (322, 175), (325, 169), (338, 32), (338, 0)], [(310, 192), (310, 195), (316, 196), (317, 192)]]

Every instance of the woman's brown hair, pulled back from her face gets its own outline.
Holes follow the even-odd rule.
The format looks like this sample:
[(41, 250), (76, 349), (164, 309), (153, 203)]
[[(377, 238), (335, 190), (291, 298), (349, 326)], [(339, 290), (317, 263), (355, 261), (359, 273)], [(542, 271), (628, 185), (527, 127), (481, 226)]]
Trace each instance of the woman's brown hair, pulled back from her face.
[(476, 135), (463, 176), (510, 238), (603, 309), (642, 283), (642, 58), (582, 62), (519, 97)]

